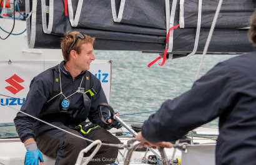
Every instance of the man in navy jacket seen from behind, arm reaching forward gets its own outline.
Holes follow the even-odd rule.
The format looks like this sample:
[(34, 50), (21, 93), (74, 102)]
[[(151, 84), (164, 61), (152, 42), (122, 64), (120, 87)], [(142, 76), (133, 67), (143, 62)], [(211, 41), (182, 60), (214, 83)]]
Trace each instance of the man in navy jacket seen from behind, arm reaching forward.
[[(256, 10), (249, 37), (256, 49)], [(142, 126), (137, 140), (167, 146), (200, 125), (219, 117), (215, 163), (256, 163), (256, 52), (215, 65), (193, 87), (165, 101)], [(154, 144), (157, 143), (157, 144)]]

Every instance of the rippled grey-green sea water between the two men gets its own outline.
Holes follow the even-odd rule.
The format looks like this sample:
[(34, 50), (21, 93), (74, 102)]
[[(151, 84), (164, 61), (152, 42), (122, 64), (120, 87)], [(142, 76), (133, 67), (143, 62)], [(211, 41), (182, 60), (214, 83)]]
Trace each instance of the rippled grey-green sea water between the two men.
[[(202, 55), (192, 55), (167, 60), (163, 66), (159, 65), (162, 63), (160, 59), (149, 68), (147, 65), (159, 57), (158, 54), (96, 50), (94, 55), (98, 60), (112, 60), (110, 105), (120, 115), (124, 115), (121, 116), (122, 120), (130, 124), (143, 123), (152, 113), (141, 112), (159, 110), (165, 100), (189, 90), (195, 82), (202, 59)], [(218, 62), (231, 57), (235, 55), (205, 55), (199, 77)], [(139, 114), (127, 115), (133, 113)], [(218, 118), (204, 126), (218, 126)]]

